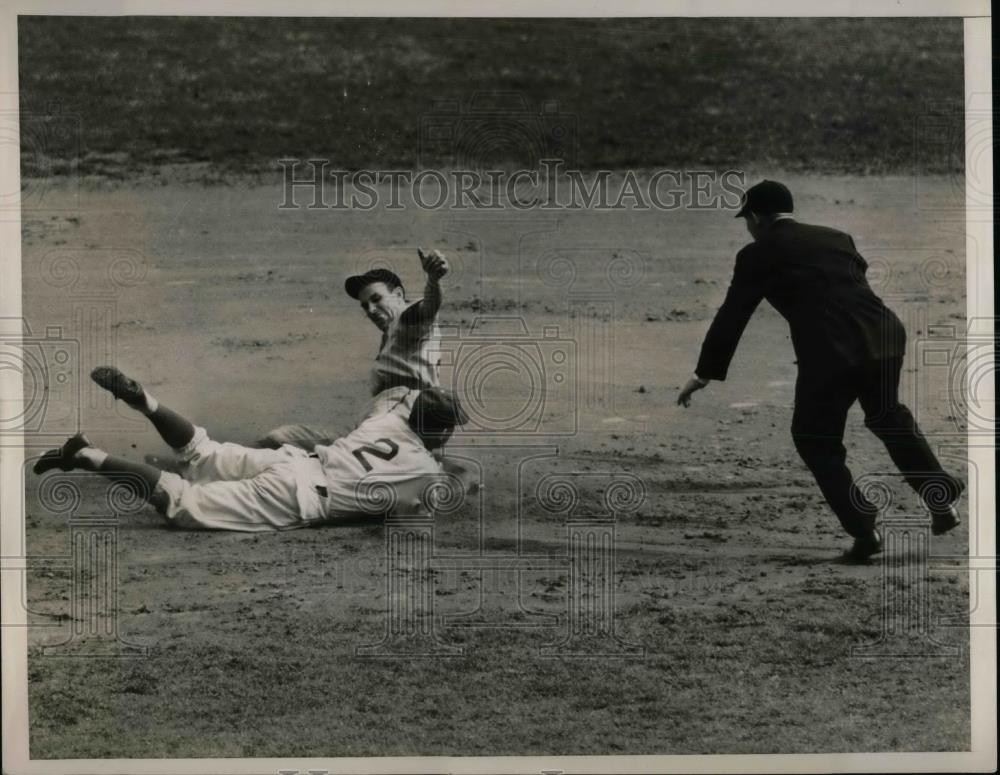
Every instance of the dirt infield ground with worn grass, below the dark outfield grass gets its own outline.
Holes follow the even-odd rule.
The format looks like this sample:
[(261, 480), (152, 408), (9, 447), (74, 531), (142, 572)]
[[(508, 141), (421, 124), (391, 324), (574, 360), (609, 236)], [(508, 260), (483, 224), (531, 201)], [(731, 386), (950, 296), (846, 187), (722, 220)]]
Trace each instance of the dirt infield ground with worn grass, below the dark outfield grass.
[[(763, 172), (790, 185), (802, 220), (854, 235), (907, 324), (903, 394), (968, 480), (947, 369), (920, 358), (928, 337), (950, 347), (964, 329), (962, 181), (750, 177)], [(539, 372), (537, 423), (486, 448), (456, 442), (488, 477), (433, 527), (435, 555), (451, 558), (433, 573), (439, 634), (462, 653), (357, 654), (383, 637), (390, 605), (378, 522), (189, 533), (142, 509), (115, 532), (116, 626), (145, 656), (71, 658), (94, 638), (46, 652), (89, 620), (70, 605), (65, 563), (29, 573), (33, 757), (969, 747), (969, 584), (945, 567), (966, 554), (967, 528), (933, 540), (936, 570), (916, 581), (837, 561), (848, 542), (792, 448), (795, 364), (769, 308), (728, 381), (687, 411), (674, 404), (747, 239), (731, 211), (279, 211), (276, 181), (32, 191), (25, 317), (34, 336), (61, 326), (79, 342), (69, 379), (80, 392), (60, 395), (83, 403), (77, 415), (60, 404), (45, 428), (78, 424), (112, 453), (167, 450), (87, 387), (83, 375), (109, 359), (217, 438), (249, 442), (290, 421), (349, 427), (378, 340), (343, 277), (390, 265), (416, 294), (418, 244), (453, 261), (442, 319), (456, 351), (486, 358), (489, 342), (530, 342), (544, 360), (561, 342), (570, 358), (561, 382), (551, 366)], [(482, 318), (495, 326), (487, 344), (470, 330)], [(479, 376), (490, 417), (517, 416), (525, 373)], [(47, 443), (29, 441), (29, 455)], [(856, 475), (891, 470), (856, 409), (846, 443)], [(558, 562), (568, 512), (534, 500), (550, 474), (586, 474), (597, 490), (631, 475), (644, 491), (615, 525), (619, 640), (588, 657), (543, 652), (565, 635), (572, 584)], [(919, 513), (898, 478), (885, 481), (890, 514)], [(38, 478), (25, 486), (28, 553), (67, 556), (67, 515), (40, 501), (51, 493)], [(87, 479), (76, 513), (106, 514), (106, 490)], [(916, 562), (918, 551), (889, 554)], [(526, 555), (552, 562), (510, 569)], [(930, 634), (873, 645), (893, 594), (927, 601)]]

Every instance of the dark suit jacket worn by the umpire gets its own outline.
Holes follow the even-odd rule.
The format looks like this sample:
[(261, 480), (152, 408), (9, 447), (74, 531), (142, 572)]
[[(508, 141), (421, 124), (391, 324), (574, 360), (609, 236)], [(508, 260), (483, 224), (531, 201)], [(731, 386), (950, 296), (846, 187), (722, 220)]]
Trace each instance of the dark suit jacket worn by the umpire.
[(762, 299), (788, 321), (800, 375), (821, 377), (902, 357), (906, 332), (865, 279), (850, 235), (781, 219), (736, 256), (726, 300), (695, 373), (725, 379), (743, 329)]

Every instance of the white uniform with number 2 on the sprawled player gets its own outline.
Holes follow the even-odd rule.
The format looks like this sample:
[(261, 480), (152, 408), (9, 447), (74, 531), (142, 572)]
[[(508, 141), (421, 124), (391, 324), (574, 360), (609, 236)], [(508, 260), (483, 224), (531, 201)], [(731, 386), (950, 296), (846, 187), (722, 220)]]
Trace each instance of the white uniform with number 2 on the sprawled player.
[(309, 454), (252, 449), (197, 428), (176, 450), (184, 475), (163, 472), (163, 513), (178, 527), (261, 532), (357, 514), (427, 513), (442, 469), (400, 414), (372, 417)]

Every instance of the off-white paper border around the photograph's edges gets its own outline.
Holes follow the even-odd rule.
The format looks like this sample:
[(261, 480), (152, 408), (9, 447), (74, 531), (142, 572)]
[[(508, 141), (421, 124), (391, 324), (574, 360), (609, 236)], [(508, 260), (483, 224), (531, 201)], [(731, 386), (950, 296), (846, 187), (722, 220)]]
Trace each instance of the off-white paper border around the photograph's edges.
[[(18, 109), (18, 15), (178, 15), (178, 16), (468, 16), (468, 17), (560, 17), (560, 16), (941, 16), (965, 18), (965, 97), (987, 103), (992, 115), (990, 5), (986, 0), (829, 0), (815, 6), (790, 0), (769, 3), (764, 13), (748, 0), (632, 0), (589, 3), (582, 0), (508, 0), (505, 2), (448, 2), (424, 0), (419, 4), (389, 0), (372, 6), (368, 2), (308, 2), (307, 0), (246, 0), (235, 6), (224, 0), (113, 0), (71, 2), (37, 0), (0, 4), (0, 109)], [(857, 11), (863, 9), (864, 13)], [(990, 127), (992, 132), (992, 126)], [(0, 144), (0, 190), (20, 190), (19, 148)], [(981, 197), (986, 185), (992, 190), (992, 147), (968, 153), (967, 200)], [(974, 168), (973, 168), (974, 165)], [(976, 181), (979, 192), (971, 190)], [(993, 223), (967, 212), (967, 319), (994, 318)], [(0, 317), (20, 318), (21, 224), (19, 214), (0, 221)], [(986, 332), (983, 332), (986, 333)], [(989, 334), (992, 336), (992, 327)], [(995, 365), (990, 369), (991, 389)], [(0, 370), (0, 400), (17, 406), (22, 400), (19, 375)], [(972, 402), (968, 402), (972, 405)], [(992, 413), (995, 407), (990, 406)], [(976, 424), (982, 428), (982, 409)], [(970, 422), (970, 427), (973, 423)], [(995, 415), (992, 417), (995, 423)], [(970, 439), (970, 442), (972, 440)], [(994, 450), (969, 444), (970, 463), (983, 474), (978, 493), (980, 513), (970, 515), (970, 534), (975, 531), (979, 553), (992, 552), (995, 573), (995, 468)], [(546, 757), (371, 757), (309, 759), (103, 759), (31, 760), (28, 752), (27, 628), (21, 607), (24, 584), (24, 492), (20, 480), (23, 449), (0, 448), (0, 581), (2, 621), (0, 648), (3, 657), (3, 771), (12, 775), (48, 773), (268, 773), (298, 769), (330, 773), (755, 773), (755, 772), (986, 772), (996, 768), (996, 599), (995, 585), (979, 585), (978, 605), (971, 611), (971, 742), (972, 750), (957, 753), (849, 753), (803, 755), (684, 755), (684, 756), (546, 756)], [(972, 535), (970, 535), (970, 544)], [(983, 559), (983, 558), (980, 558)], [(970, 567), (970, 573), (973, 569)]]

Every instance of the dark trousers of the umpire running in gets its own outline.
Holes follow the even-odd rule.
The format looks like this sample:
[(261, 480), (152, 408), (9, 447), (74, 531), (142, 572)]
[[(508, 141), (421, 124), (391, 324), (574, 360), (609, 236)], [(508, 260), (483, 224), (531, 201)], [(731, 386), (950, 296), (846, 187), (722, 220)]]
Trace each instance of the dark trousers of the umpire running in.
[(891, 358), (833, 374), (800, 373), (795, 385), (795, 449), (852, 536), (871, 531), (878, 513), (855, 486), (845, 462), (844, 426), (855, 401), (864, 410), (865, 426), (882, 440), (892, 462), (925, 503), (945, 505), (962, 492), (962, 483), (941, 468), (910, 410), (899, 402), (902, 368), (902, 358)]

